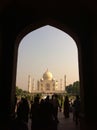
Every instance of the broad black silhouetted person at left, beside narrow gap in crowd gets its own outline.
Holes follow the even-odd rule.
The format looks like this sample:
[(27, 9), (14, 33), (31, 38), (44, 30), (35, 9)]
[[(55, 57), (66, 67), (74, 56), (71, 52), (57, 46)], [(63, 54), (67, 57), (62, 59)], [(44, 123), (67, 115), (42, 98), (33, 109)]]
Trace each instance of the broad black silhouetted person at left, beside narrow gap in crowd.
[(28, 102), (25, 98), (22, 98), (17, 108), (17, 117), (13, 121), (11, 129), (28, 130), (28, 114), (29, 114)]

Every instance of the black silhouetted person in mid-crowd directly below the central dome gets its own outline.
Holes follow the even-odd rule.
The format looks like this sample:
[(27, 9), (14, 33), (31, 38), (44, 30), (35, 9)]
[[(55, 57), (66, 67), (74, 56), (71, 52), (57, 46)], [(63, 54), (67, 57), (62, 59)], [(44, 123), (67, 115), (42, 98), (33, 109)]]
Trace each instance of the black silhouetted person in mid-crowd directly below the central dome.
[(40, 102), (41, 130), (57, 130), (57, 124), (53, 115), (53, 104), (49, 96)]

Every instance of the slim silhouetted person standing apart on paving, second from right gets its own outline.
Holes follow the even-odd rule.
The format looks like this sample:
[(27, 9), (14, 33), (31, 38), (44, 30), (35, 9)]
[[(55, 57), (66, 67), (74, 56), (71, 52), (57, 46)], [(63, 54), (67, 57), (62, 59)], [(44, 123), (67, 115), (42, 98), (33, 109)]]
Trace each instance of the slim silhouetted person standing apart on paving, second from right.
[(66, 96), (64, 101), (64, 111), (63, 111), (65, 118), (69, 118), (69, 110), (70, 110), (69, 99), (68, 96)]

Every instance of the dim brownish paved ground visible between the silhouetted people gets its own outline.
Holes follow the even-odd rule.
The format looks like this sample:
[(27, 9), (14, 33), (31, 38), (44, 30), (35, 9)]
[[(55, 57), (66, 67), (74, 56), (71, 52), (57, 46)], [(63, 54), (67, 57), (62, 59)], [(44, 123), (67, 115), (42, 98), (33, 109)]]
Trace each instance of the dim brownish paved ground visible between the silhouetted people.
[[(69, 119), (65, 119), (62, 112), (58, 113), (58, 130), (80, 130), (79, 125), (75, 125), (75, 122), (72, 119), (72, 114), (70, 114)], [(31, 130), (31, 122), (29, 120), (29, 130)]]

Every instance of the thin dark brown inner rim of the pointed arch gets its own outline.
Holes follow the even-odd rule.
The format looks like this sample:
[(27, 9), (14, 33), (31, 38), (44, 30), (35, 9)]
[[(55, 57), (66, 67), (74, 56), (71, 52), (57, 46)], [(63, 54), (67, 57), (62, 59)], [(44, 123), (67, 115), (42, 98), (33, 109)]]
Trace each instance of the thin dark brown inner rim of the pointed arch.
[[(17, 57), (18, 57), (18, 47), (19, 47), (19, 44), (21, 42), (21, 40), (30, 32), (38, 29), (38, 28), (41, 28), (43, 26), (46, 26), (46, 25), (50, 25), (50, 26), (53, 26), (65, 33), (67, 33), (76, 43), (77, 45), (77, 49), (78, 49), (78, 70), (79, 70), (79, 80), (80, 80), (80, 96), (81, 98), (83, 99), (83, 94), (82, 94), (82, 64), (81, 64), (81, 45), (80, 45), (80, 40), (78, 38), (78, 35), (75, 33), (75, 30), (74, 29), (71, 29), (69, 28), (68, 26), (66, 26), (65, 24), (62, 24), (60, 21), (57, 21), (57, 20), (54, 20), (54, 19), (51, 19), (51, 18), (47, 18), (47, 19), (43, 19), (41, 21), (38, 21), (34, 24), (30, 24), (28, 26), (26, 26), (25, 28), (23, 28), (21, 30), (21, 32), (18, 33), (18, 36), (17, 36), (17, 39), (16, 39), (16, 42), (15, 42), (15, 57), (14, 57), (14, 73), (13, 73), (13, 78), (14, 78), (14, 85), (15, 86), (15, 81), (16, 81), (16, 70), (17, 70)], [(15, 88), (13, 88), (15, 89)], [(82, 104), (82, 109), (83, 109), (83, 105)], [(83, 110), (82, 110), (83, 111)]]

